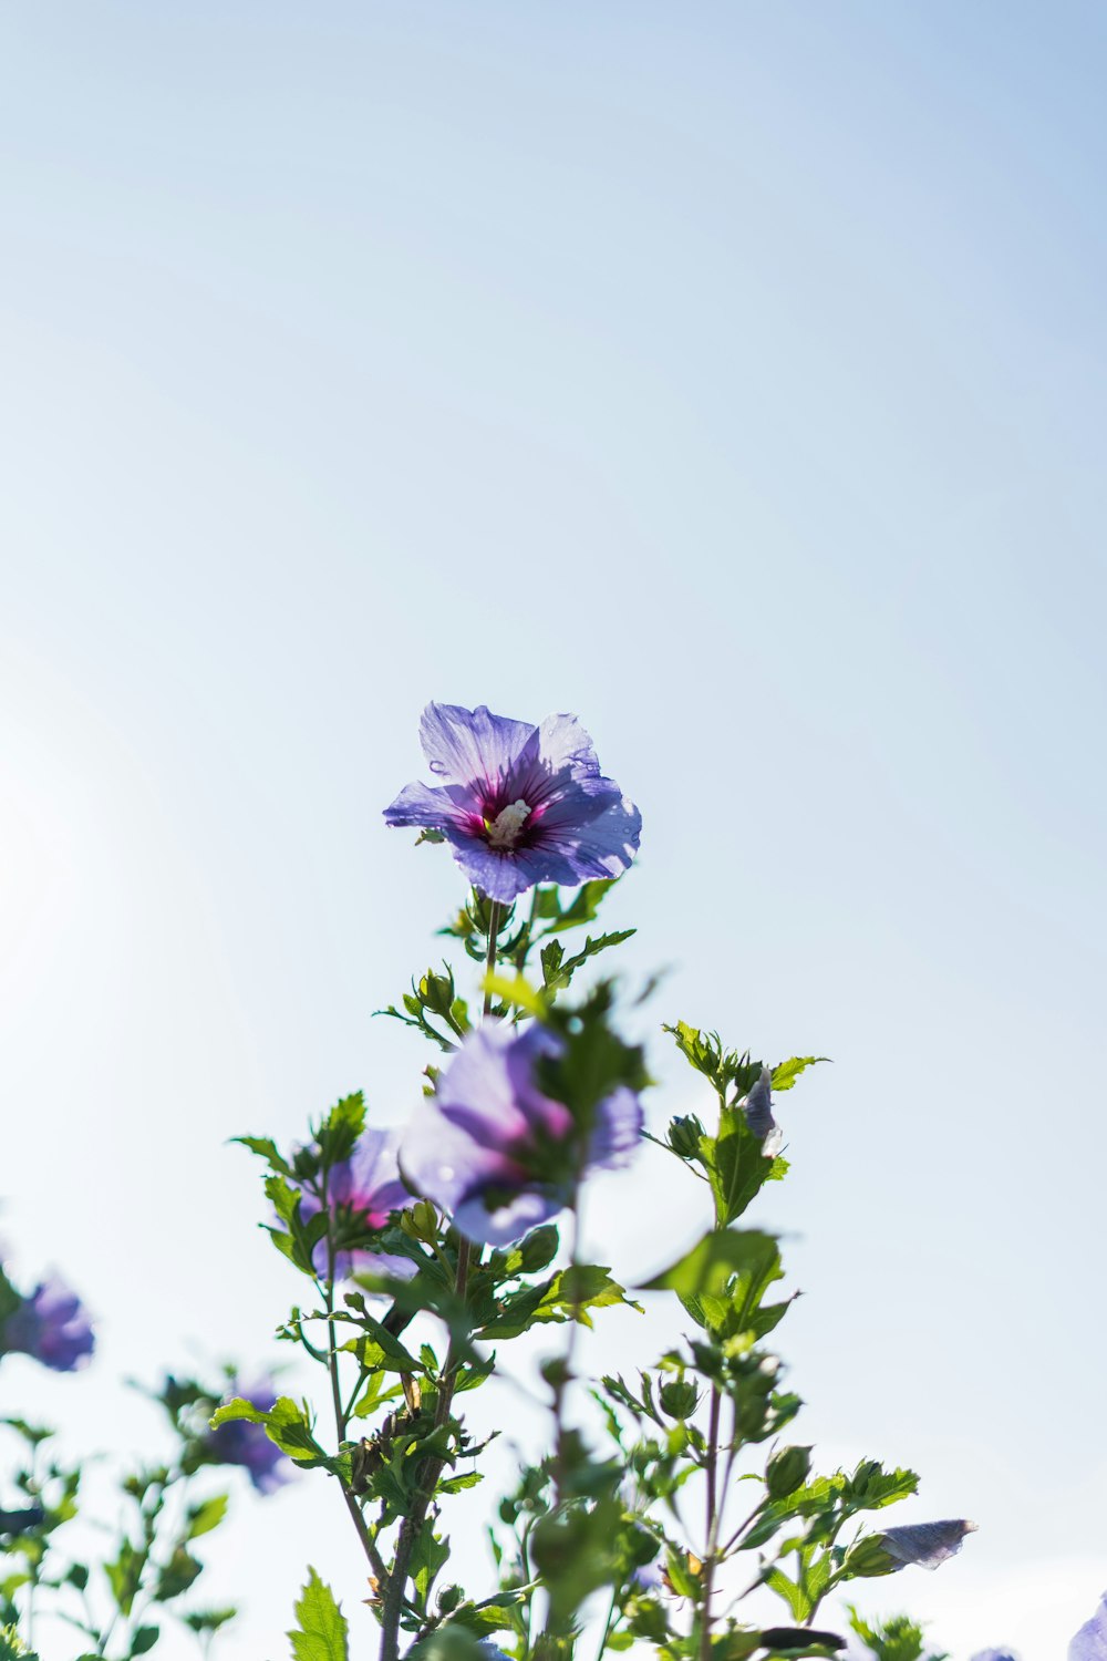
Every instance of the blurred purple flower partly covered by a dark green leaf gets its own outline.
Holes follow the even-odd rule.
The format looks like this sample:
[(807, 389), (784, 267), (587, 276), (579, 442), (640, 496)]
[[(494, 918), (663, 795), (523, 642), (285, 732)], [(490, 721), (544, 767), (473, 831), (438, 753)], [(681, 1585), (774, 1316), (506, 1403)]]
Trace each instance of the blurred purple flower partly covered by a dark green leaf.
[[(505, 1246), (573, 1198), (576, 1124), (534, 1080), (539, 1056), (559, 1050), (538, 1025), (518, 1031), (486, 1022), (463, 1041), (403, 1138), (407, 1181), (473, 1241)], [(619, 1086), (596, 1110), (586, 1163), (626, 1164), (641, 1128), (637, 1096)]]

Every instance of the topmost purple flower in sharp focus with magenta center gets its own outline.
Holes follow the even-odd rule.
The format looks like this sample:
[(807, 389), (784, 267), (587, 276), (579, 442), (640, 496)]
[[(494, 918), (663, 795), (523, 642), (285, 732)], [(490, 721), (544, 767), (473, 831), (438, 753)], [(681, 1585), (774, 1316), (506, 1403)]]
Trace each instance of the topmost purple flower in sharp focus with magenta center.
[(576, 716), (531, 726), (485, 704), (427, 704), (420, 737), (441, 784), (408, 784), (385, 821), (440, 830), (488, 899), (510, 904), (536, 882), (619, 877), (634, 859), (642, 816), (602, 776)]

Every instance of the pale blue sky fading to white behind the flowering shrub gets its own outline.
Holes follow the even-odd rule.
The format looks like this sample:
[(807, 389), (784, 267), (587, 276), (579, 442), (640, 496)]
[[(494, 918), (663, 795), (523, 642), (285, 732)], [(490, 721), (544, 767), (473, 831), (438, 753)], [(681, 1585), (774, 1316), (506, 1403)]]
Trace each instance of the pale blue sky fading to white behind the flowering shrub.
[[(101, 1350), (0, 1410), (151, 1450), (123, 1375), (274, 1359), (224, 1143), (417, 1098), (370, 1013), (460, 895), (380, 821), (418, 711), (574, 709), (656, 1018), (835, 1060), (758, 1213), (803, 1438), (981, 1525), (861, 1601), (1064, 1653), (1107, 1586), (1105, 70), (1099, 0), (3, 8), (0, 1226)], [(626, 1274), (695, 1232), (649, 1159), (604, 1194)], [(322, 1480), (236, 1518), (227, 1661), (307, 1561), (360, 1618)]]

